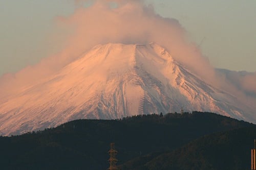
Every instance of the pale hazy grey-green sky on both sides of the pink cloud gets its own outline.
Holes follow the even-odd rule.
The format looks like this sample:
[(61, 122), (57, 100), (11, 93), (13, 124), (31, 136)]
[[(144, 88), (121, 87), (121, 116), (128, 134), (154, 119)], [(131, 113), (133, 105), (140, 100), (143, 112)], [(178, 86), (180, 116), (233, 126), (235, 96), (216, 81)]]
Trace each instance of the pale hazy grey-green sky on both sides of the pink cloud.
[[(255, 0), (147, 2), (160, 15), (179, 20), (215, 67), (256, 71)], [(59, 32), (56, 17), (74, 9), (71, 0), (0, 1), (0, 75), (60, 51), (61, 36), (52, 38)]]

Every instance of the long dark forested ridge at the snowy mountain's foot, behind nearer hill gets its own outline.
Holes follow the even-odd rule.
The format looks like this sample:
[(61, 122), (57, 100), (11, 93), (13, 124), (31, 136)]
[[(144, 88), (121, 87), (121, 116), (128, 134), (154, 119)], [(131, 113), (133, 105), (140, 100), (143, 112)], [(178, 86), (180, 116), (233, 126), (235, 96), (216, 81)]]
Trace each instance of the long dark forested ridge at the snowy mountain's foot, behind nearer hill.
[[(138, 115), (121, 120), (74, 120), (44, 131), (0, 137), (0, 169), (106, 169), (111, 142), (116, 144), (118, 164), (124, 165), (123, 170), (139, 168), (139, 166), (159, 169), (156, 164), (159, 162), (166, 164), (163, 158), (167, 156), (168, 160), (173, 160), (177, 164), (166, 164), (166, 167), (162, 168), (172, 169), (184, 164), (184, 159), (187, 159), (186, 154), (190, 152), (189, 155), (195, 154), (195, 150), (191, 148), (186, 150), (188, 147), (185, 144), (189, 142), (190, 145), (195, 146), (194, 148), (199, 147), (198, 153), (201, 156), (206, 154), (209, 160), (212, 157), (213, 161), (218, 161), (213, 158), (222, 148), (214, 149), (216, 153), (211, 153), (200, 147), (207, 148), (207, 144), (211, 144), (211, 147), (218, 146), (221, 143), (225, 146), (225, 141), (230, 144), (232, 138), (227, 136), (227, 140), (217, 140), (218, 136), (216, 140), (212, 140), (211, 137), (204, 135), (224, 133), (234, 129), (239, 131), (246, 127), (251, 127), (253, 130), (256, 126), (214, 113), (201, 112), (184, 115), (169, 113), (164, 116)], [(240, 137), (241, 143), (244, 140), (248, 142), (247, 135), (253, 136), (251, 133), (243, 133), (245, 136), (241, 137), (241, 133), (238, 133), (237, 137)], [(199, 137), (201, 138), (197, 139)], [(202, 138), (207, 140), (200, 143)], [(249, 146), (243, 145), (243, 147)], [(174, 156), (177, 160), (171, 159)], [(131, 163), (135, 158), (139, 166)], [(193, 161), (192, 159), (191, 164), (194, 164)], [(216, 162), (211, 163), (214, 167)], [(201, 164), (199, 162), (195, 167)]]

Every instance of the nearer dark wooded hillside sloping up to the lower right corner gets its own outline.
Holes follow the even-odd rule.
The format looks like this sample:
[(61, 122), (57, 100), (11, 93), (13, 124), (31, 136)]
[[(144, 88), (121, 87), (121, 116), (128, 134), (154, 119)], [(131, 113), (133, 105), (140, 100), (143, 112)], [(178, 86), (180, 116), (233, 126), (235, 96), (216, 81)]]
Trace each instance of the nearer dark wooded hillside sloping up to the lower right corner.
[(205, 135), (172, 152), (146, 155), (122, 164), (122, 170), (244, 170), (250, 169), (250, 149), (256, 127)]

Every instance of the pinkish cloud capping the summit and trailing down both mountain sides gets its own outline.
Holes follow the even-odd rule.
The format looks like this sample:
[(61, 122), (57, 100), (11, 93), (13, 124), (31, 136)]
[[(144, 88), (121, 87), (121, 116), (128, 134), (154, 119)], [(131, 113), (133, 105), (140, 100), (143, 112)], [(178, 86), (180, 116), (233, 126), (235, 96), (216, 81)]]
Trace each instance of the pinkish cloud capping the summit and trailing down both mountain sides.
[[(90, 5), (84, 7), (84, 2)], [(56, 19), (60, 30), (70, 31), (65, 40), (65, 48), (37, 65), (27, 67), (8, 78), (2, 78), (0, 96), (6, 93), (6, 90), (17, 88), (14, 84), (25, 86), (30, 82), (39, 81), (79, 58), (93, 46), (105, 43), (155, 42), (165, 47), (175, 60), (195, 71), (207, 82), (226, 89), (232, 86), (216, 77), (215, 69), (208, 59), (202, 56), (197, 45), (187, 39), (186, 31), (179, 21), (156, 14), (152, 5), (137, 0), (75, 0), (75, 3), (77, 9), (72, 15)], [(246, 91), (254, 90), (254, 86), (247, 83), (244, 85), (244, 82), (250, 83), (254, 79), (255, 77), (248, 77), (240, 84), (243, 84), (242, 87)]]

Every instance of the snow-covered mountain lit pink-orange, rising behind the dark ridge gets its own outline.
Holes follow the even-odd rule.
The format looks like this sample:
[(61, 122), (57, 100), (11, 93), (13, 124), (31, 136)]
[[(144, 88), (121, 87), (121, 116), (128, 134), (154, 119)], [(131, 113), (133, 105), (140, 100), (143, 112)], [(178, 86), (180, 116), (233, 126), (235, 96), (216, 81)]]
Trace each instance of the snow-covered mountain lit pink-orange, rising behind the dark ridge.
[(206, 84), (163, 47), (106, 44), (0, 103), (0, 133), (20, 134), (79, 118), (175, 112), (181, 107), (256, 122), (252, 106)]

